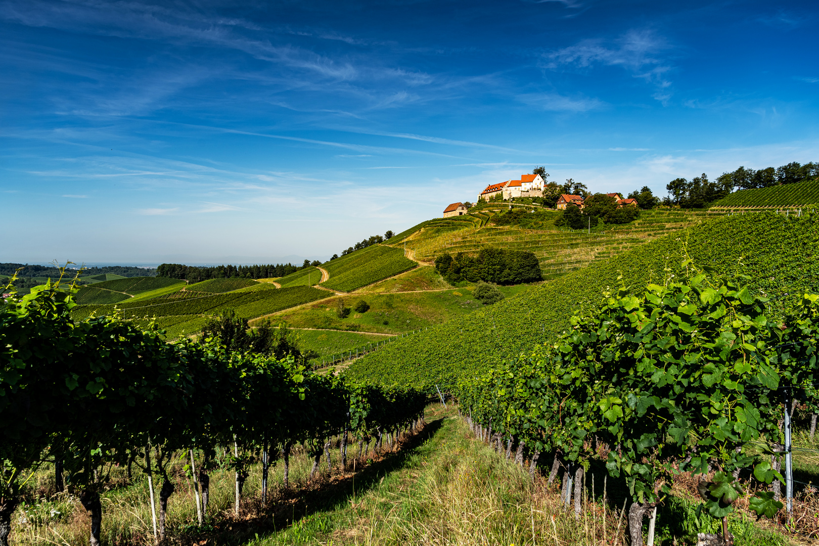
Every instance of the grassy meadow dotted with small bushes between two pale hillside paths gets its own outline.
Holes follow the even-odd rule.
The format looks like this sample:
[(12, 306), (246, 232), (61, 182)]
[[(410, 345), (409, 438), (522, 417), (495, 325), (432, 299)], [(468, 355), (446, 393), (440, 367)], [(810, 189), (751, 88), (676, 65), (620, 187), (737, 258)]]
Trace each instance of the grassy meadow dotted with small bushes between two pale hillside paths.
[[(509, 297), (529, 289), (530, 286), (517, 285), (499, 288)], [(484, 305), (474, 300), (472, 289), (473, 287), (466, 287), (404, 294), (335, 296), (313, 305), (285, 311), (276, 315), (276, 320), (284, 320), (290, 326), (298, 328), (325, 328), (385, 334), (411, 332), (446, 323), (453, 318), (471, 314), (476, 309), (482, 309)], [(364, 300), (370, 305), (370, 309), (366, 313), (353, 311), (347, 318), (338, 318), (336, 314), (338, 300), (344, 300), (345, 305), (350, 308), (354, 307), (357, 301)]]

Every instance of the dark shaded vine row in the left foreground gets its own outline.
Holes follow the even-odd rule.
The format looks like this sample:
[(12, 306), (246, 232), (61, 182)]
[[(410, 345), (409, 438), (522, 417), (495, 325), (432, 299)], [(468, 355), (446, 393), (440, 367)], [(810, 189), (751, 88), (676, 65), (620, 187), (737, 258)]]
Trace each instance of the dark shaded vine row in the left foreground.
[[(208, 508), (209, 473), (219, 453), (233, 453), (228, 464), (238, 516), (254, 463), (261, 463), (265, 504), (278, 453), (287, 489), (293, 452), (313, 459), (314, 474), (340, 440), (346, 470), (347, 445), (357, 443), (361, 454), (362, 444), (368, 451), (373, 444), (374, 454), (422, 424), (427, 395), (416, 390), (318, 375), (292, 357), (230, 353), (212, 340), (168, 344), (157, 332), (118, 318), (75, 323), (66, 291), (38, 287), (33, 295), (12, 298), (0, 309), (6, 348), (0, 368), (2, 546), (15, 508), (34, 493), (26, 485), (43, 453), (54, 467), (57, 492), (75, 494), (90, 514), (90, 544), (99, 546), (103, 518), (112, 508), (101, 493), (130, 481), (132, 466), (147, 476), (150, 494), (143, 502), (150, 504), (154, 539), (161, 540), (170, 531), (168, 501), (181, 485), (171, 472), (180, 455), (192, 465), (201, 525), (216, 516)], [(33, 346), (36, 352), (29, 350)], [(127, 467), (127, 478), (115, 483), (113, 467)], [(162, 484), (159, 499), (154, 480)], [(106, 539), (129, 542), (117, 535)]]

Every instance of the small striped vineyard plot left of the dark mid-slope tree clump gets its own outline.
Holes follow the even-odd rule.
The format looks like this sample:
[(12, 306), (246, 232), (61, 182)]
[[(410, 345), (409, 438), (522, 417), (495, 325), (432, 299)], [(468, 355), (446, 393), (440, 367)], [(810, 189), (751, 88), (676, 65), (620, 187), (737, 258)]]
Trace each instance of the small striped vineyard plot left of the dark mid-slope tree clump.
[(321, 286), (350, 292), (403, 273), (416, 265), (413, 260), (404, 257), (404, 250), (383, 245), (368, 246), (324, 264), (330, 278)]

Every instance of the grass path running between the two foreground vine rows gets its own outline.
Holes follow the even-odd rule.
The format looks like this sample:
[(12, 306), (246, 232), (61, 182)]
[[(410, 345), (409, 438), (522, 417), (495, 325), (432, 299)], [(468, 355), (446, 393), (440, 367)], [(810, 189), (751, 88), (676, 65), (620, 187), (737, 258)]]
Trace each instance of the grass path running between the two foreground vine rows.
[(403, 449), (355, 476), (355, 486), (305, 501), (313, 508), (303, 517), (247, 544), (592, 544), (589, 521), (575, 521), (556, 495), (474, 440), (454, 408), (433, 404), (427, 421)]

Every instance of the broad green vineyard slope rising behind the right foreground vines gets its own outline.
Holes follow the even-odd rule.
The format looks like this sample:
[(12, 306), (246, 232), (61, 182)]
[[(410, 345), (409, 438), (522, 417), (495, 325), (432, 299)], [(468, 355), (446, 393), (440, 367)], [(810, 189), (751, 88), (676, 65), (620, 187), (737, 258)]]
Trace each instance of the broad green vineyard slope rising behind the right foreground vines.
[(718, 273), (748, 274), (749, 287), (772, 299), (776, 315), (776, 309), (792, 305), (800, 292), (819, 290), (817, 248), (819, 214), (724, 216), (406, 336), (356, 360), (346, 374), (357, 380), (452, 386), (460, 375), (554, 341), (569, 327), (572, 314), (590, 309), (620, 282), (639, 290), (679, 273), (686, 251), (697, 264)]

